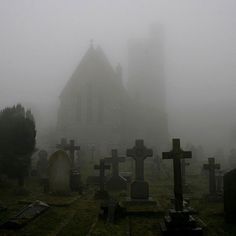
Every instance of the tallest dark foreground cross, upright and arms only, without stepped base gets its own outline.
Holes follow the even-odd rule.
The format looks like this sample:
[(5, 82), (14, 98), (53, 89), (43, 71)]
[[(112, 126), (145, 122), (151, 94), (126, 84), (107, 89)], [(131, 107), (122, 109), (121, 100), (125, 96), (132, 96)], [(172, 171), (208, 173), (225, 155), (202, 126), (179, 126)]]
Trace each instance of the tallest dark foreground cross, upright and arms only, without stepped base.
[(173, 159), (175, 210), (183, 211), (183, 185), (182, 185), (182, 173), (181, 173), (181, 159), (192, 158), (192, 152), (183, 151), (180, 147), (180, 139), (173, 139), (172, 150), (170, 152), (163, 152), (162, 158)]

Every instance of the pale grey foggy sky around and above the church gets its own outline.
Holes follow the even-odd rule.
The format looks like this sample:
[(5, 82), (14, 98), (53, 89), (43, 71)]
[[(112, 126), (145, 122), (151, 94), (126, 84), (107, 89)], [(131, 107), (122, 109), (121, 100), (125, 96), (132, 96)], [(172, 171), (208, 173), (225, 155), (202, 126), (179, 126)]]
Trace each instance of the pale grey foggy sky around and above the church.
[(236, 145), (234, 0), (1, 0), (0, 107), (32, 108), (38, 130), (56, 125), (59, 95), (100, 45), (127, 82), (130, 39), (158, 24), (163, 38), (169, 136), (208, 154)]

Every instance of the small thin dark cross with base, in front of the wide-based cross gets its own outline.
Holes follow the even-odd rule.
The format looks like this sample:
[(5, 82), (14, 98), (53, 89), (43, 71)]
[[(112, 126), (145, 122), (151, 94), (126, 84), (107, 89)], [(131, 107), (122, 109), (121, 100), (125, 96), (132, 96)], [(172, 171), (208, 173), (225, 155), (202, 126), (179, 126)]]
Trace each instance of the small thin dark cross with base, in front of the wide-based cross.
[(110, 169), (109, 165), (105, 164), (105, 160), (101, 159), (99, 165), (94, 166), (95, 170), (99, 170), (99, 187), (100, 189), (95, 193), (95, 199), (105, 199), (109, 197), (108, 192), (105, 190), (105, 171)]

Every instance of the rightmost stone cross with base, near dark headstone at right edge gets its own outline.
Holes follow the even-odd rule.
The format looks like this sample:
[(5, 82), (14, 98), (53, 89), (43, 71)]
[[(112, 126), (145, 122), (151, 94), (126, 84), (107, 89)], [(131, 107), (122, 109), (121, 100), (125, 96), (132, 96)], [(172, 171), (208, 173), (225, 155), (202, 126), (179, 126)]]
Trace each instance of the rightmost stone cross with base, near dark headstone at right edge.
[(208, 164), (204, 164), (203, 168), (209, 171), (209, 194), (207, 199), (210, 201), (221, 200), (222, 196), (217, 193), (216, 189), (216, 170), (220, 169), (220, 164), (215, 163), (215, 158), (208, 158)]

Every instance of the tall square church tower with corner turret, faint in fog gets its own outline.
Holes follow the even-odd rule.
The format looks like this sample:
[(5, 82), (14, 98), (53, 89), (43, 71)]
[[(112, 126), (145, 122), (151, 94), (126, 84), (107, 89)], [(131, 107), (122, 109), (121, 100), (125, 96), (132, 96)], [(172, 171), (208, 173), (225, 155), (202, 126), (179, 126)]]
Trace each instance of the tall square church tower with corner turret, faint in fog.
[(128, 92), (141, 107), (136, 135), (165, 147), (168, 139), (163, 33), (153, 26), (149, 38), (134, 40), (128, 51)]

